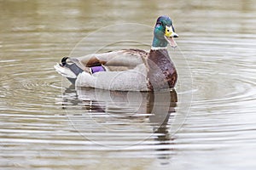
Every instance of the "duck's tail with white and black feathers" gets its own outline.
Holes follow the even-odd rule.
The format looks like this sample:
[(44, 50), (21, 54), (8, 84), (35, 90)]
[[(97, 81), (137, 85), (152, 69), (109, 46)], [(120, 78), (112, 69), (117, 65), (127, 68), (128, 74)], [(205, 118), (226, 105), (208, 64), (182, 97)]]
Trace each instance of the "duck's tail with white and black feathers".
[(67, 59), (69, 58), (63, 57), (61, 64), (57, 63), (54, 67), (59, 74), (63, 77), (67, 77), (67, 79), (74, 84), (79, 74), (84, 70), (81, 69), (76, 62), (73, 62), (75, 61), (74, 59), (70, 59), (70, 63), (67, 63)]

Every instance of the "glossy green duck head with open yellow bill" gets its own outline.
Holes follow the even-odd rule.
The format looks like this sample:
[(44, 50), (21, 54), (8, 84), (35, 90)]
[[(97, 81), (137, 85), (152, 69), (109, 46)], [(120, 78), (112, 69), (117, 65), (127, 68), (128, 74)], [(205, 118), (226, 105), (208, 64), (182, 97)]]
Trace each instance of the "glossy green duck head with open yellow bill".
[(173, 37), (178, 37), (177, 33), (174, 31), (172, 26), (172, 20), (168, 16), (160, 16), (156, 20), (154, 26), (154, 39), (152, 46), (157, 47), (166, 47), (169, 43), (172, 48), (177, 47), (177, 43), (173, 40)]

